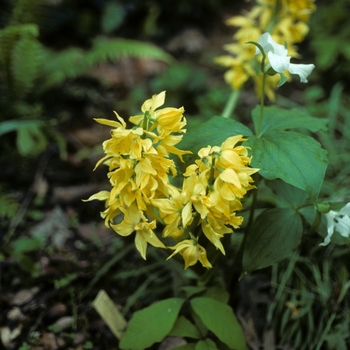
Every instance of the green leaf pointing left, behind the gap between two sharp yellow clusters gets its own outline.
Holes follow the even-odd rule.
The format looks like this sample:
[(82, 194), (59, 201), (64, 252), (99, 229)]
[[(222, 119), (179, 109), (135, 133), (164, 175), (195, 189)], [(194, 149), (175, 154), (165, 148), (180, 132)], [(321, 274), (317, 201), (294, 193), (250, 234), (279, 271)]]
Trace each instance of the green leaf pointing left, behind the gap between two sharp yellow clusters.
[(252, 131), (233, 119), (212, 117), (204, 123), (189, 123), (179, 146), (181, 149), (191, 150), (196, 155), (201, 148), (208, 145), (220, 146), (228, 137), (234, 135), (249, 136), (252, 135)]

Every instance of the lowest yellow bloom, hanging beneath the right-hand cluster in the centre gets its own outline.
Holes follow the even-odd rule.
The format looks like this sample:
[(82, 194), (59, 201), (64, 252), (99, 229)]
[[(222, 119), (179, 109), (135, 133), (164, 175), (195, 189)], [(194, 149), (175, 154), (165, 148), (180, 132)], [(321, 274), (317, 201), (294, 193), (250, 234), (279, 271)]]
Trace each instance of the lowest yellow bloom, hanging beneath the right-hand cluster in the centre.
[(186, 239), (179, 242), (174, 247), (169, 248), (174, 249), (175, 251), (168, 257), (167, 260), (179, 253), (185, 260), (185, 269), (187, 269), (189, 266), (195, 265), (198, 260), (207, 269), (212, 267), (211, 263), (208, 261), (206, 250), (197, 243), (196, 239)]

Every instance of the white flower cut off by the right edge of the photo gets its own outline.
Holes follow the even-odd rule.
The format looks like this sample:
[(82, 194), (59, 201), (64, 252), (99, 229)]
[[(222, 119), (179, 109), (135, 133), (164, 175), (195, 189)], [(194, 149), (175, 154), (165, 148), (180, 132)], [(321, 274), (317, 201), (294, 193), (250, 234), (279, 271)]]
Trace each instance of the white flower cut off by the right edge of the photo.
[(327, 218), (327, 237), (320, 245), (325, 246), (331, 241), (334, 230), (339, 232), (343, 237), (350, 236), (350, 202), (343, 208), (336, 211), (329, 211), (326, 214)]

